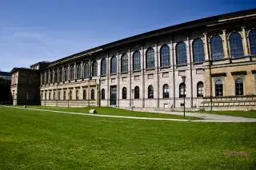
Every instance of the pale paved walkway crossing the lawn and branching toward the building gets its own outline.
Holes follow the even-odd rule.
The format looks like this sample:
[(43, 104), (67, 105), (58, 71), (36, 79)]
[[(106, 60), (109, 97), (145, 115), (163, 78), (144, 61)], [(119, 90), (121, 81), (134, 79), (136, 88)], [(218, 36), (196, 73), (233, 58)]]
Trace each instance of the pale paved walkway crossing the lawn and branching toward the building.
[[(1, 106), (15, 108), (15, 109), (29, 109), (29, 110), (37, 110), (37, 111), (42, 111), (42, 112), (77, 114), (77, 115), (91, 116), (91, 117), (115, 117), (115, 118), (124, 118), (124, 119), (151, 120), (151, 121), (256, 122), (256, 119), (254, 119), (254, 118), (231, 117), (231, 116), (215, 115), (215, 114), (207, 114), (207, 113), (186, 113), (186, 116), (188, 116), (188, 117), (198, 117), (198, 118), (202, 118), (203, 120), (183, 120), (183, 119), (154, 118), (154, 117), (126, 117), (126, 116), (100, 115), (100, 114), (91, 114), (91, 113), (72, 113), (72, 112), (47, 110), (47, 109), (32, 109), (32, 108), (22, 108), (22, 107), (3, 106), (3, 105), (1, 105)], [(158, 111), (153, 111), (153, 110), (139, 110), (139, 109), (134, 109), (134, 111), (183, 115), (183, 113), (178, 113), (178, 112), (165, 112), (165, 111), (158, 112)]]

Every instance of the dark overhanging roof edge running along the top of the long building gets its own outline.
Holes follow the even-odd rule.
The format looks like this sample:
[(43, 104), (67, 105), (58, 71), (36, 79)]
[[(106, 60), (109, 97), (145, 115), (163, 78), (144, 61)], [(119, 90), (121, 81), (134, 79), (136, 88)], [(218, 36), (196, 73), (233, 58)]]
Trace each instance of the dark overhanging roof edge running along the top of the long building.
[[(167, 33), (172, 33), (172, 32), (176, 32), (176, 31), (179, 31), (179, 30), (187, 30), (188, 29), (187, 26), (197, 27), (197, 25), (195, 25), (197, 23), (198, 24), (201, 23), (201, 25), (199, 25), (199, 26), (207, 26), (206, 25), (207, 22), (212, 22), (212, 24), (214, 24), (214, 20), (216, 20), (215, 22), (219, 22), (219, 19), (221, 19), (221, 18), (224, 21), (224, 20), (229, 20), (229, 19), (224, 19), (226, 17), (231, 17), (231, 16), (234, 16), (234, 17), (240, 16), (241, 17), (241, 16), (246, 16), (246, 14), (252, 14), (252, 13), (256, 14), (256, 8), (250, 9), (250, 10), (239, 10), (239, 11), (235, 11), (235, 12), (231, 12), (231, 13), (227, 13), (227, 14), (219, 14), (219, 15), (215, 15), (215, 16), (211, 16), (211, 17), (207, 17), (207, 18), (200, 18), (200, 19), (190, 21), (190, 22), (183, 22), (183, 23), (180, 23), (180, 24), (177, 24), (177, 25), (174, 25), (174, 26), (167, 26), (167, 27), (164, 27), (164, 28), (161, 28), (161, 29), (158, 29), (158, 30), (151, 30), (151, 31), (148, 31), (146, 33), (137, 34), (137, 35), (134, 35), (134, 36), (131, 36), (131, 37), (128, 37), (128, 38), (120, 39), (118, 41), (106, 43), (104, 45), (99, 45), (99, 46), (96, 46), (96, 47), (91, 48), (91, 49), (86, 49), (82, 52), (74, 53), (74, 54), (72, 54), (70, 56), (67, 56), (67, 57), (62, 57), (62, 58), (60, 58), (56, 61), (50, 62), (49, 66), (56, 65), (59, 62), (70, 61), (70, 59), (90, 55), (92, 53), (96, 53), (96, 52), (102, 51), (104, 49), (113, 48), (113, 47), (118, 46), (118, 45), (124, 45), (124, 44), (127, 44), (127, 43), (140, 41), (140, 40), (146, 39), (146, 38), (143, 38), (146, 35), (151, 35), (150, 37), (147, 37), (147, 38), (152, 38), (152, 37), (156, 37), (158, 35), (161, 35), (161, 34), (157, 34), (157, 33), (160, 33), (160, 32), (163, 32), (162, 34), (167, 34)], [(184, 27), (184, 26), (186, 26), (186, 28), (180, 28), (180, 27)], [(173, 30), (171, 30), (171, 29), (173, 29)]]

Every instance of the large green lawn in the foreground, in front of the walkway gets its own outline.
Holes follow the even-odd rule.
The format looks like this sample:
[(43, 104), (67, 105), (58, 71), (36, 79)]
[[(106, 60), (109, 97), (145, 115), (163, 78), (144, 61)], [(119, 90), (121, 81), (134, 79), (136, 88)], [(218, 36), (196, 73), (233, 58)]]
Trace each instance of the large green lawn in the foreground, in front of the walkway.
[(255, 168), (255, 123), (130, 120), (0, 106), (0, 169)]

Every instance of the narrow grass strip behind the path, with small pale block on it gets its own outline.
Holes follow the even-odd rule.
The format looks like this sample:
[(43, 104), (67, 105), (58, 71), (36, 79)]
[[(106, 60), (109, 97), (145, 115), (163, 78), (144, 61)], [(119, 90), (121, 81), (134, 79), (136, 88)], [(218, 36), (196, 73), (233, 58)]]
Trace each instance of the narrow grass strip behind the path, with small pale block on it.
[[(22, 107), (22, 106), (19, 106)], [(58, 110), (73, 113), (89, 113), (90, 109), (96, 109), (98, 114), (101, 115), (118, 115), (127, 117), (158, 117), (158, 118), (171, 118), (171, 119), (190, 119), (197, 120), (197, 117), (183, 117), (178, 115), (171, 115), (165, 113), (146, 113), (146, 112), (132, 112), (126, 109), (106, 108), (106, 107), (86, 107), (86, 108), (63, 108), (63, 107), (49, 107), (49, 106), (27, 106), (32, 109), (46, 109)]]

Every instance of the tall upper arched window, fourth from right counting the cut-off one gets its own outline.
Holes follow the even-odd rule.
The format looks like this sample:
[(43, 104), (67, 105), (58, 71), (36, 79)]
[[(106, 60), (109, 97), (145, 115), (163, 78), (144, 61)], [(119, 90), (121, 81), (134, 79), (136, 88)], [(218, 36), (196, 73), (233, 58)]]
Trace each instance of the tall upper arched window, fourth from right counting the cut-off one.
[(205, 61), (205, 50), (203, 47), (202, 39), (197, 38), (193, 42), (193, 61), (204, 62)]

